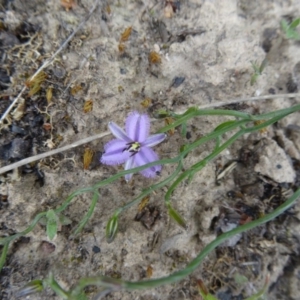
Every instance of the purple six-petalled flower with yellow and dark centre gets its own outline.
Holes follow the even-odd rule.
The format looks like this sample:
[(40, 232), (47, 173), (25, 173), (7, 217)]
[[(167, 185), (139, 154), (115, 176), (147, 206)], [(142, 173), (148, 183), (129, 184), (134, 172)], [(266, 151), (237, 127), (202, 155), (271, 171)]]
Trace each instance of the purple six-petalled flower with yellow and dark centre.
[[(126, 132), (114, 122), (109, 122), (108, 127), (116, 139), (104, 146), (105, 153), (101, 162), (106, 165), (119, 165), (125, 163), (125, 170), (143, 166), (157, 161), (158, 155), (151, 147), (161, 143), (166, 134), (158, 133), (149, 136), (150, 119), (146, 114), (132, 112), (126, 119)], [(152, 166), (140, 173), (145, 177), (153, 178), (161, 171), (161, 165)], [(132, 174), (125, 175), (129, 181)]]

